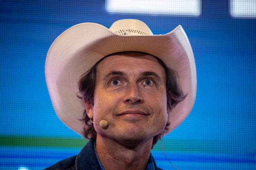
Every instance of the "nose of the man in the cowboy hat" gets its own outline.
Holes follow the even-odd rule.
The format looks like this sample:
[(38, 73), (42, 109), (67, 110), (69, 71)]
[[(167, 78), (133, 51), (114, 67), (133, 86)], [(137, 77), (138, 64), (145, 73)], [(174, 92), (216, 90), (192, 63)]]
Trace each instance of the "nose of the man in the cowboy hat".
[(136, 104), (136, 103), (142, 103), (142, 102), (143, 102), (143, 98), (141, 96), (141, 92), (137, 83), (130, 84), (129, 87), (126, 89), (124, 103)]

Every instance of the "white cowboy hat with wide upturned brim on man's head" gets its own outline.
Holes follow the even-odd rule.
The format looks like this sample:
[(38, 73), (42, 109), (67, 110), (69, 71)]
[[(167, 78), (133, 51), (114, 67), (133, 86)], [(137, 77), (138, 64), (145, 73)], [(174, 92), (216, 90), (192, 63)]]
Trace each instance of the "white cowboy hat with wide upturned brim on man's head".
[(108, 29), (81, 23), (64, 31), (52, 43), (45, 62), (45, 78), (52, 105), (60, 120), (83, 136), (84, 102), (78, 98), (78, 79), (106, 55), (136, 51), (158, 57), (178, 73), (186, 98), (170, 112), (175, 129), (188, 116), (196, 98), (196, 65), (188, 37), (179, 25), (164, 35), (153, 35), (140, 20), (122, 19)]

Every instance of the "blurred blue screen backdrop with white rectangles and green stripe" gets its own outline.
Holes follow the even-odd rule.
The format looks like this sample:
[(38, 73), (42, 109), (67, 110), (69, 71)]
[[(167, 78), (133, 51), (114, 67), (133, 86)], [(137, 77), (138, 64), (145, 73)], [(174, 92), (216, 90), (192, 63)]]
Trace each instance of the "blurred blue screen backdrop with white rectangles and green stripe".
[[(153, 34), (182, 25), (194, 51), (196, 103), (164, 137), (179, 169), (256, 169), (255, 0), (0, 1), (0, 169), (43, 169), (87, 140), (56, 116), (44, 78), (49, 47), (69, 27), (124, 18)], [(174, 169), (158, 142), (158, 167)]]

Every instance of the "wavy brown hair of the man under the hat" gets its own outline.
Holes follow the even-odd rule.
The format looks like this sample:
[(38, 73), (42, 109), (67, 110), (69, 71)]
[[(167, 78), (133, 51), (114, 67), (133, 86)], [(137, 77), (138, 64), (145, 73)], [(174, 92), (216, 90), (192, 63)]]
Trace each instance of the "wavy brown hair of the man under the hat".
[[(124, 53), (124, 52), (122, 52)], [(142, 53), (142, 52), (140, 52)], [(115, 53), (116, 54), (116, 53)], [(147, 53), (145, 53), (147, 54)], [(113, 55), (113, 54), (110, 54)], [(106, 57), (110, 56), (107, 55), (103, 57), (101, 60), (99, 60), (94, 66), (92, 66), (87, 72), (82, 74), (80, 76), (80, 79), (78, 81), (78, 89), (81, 94), (81, 96), (78, 96), (79, 98), (83, 99), (86, 102), (94, 104), (93, 98), (94, 98), (94, 88), (95, 88), (95, 82), (96, 82), (96, 72), (97, 72), (97, 66), (99, 65), (100, 61), (105, 59)], [(151, 55), (151, 54), (149, 54)], [(153, 55), (152, 55), (153, 56)], [(175, 70), (167, 67), (162, 60), (157, 58), (156, 56), (153, 56), (156, 58), (156, 60), (159, 62), (159, 64), (164, 67), (165, 75), (166, 75), (166, 94), (167, 94), (167, 105), (169, 107), (169, 111), (172, 110), (180, 101), (184, 100), (186, 95), (183, 94), (182, 89), (180, 88), (178, 84), (178, 74)], [(169, 114), (169, 112), (168, 112)], [(86, 114), (86, 110), (84, 110), (84, 118), (81, 119), (85, 123), (84, 127), (84, 137), (85, 138), (94, 138), (96, 139), (97, 132), (94, 130), (93, 124), (90, 122), (90, 118)], [(167, 122), (164, 131), (162, 131), (160, 134), (154, 136), (153, 138), (153, 146), (156, 144), (158, 139), (160, 139), (163, 134), (168, 131), (170, 123)]]

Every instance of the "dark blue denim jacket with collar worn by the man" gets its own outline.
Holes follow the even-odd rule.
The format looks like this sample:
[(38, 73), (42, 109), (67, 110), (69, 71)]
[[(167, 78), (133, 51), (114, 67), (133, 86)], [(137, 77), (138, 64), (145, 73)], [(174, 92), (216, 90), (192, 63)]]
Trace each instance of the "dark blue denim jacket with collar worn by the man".
[[(101, 170), (93, 148), (93, 142), (94, 139), (91, 139), (76, 156), (63, 159), (45, 170)], [(160, 170), (157, 168), (154, 159), (153, 163), (155, 169)]]

